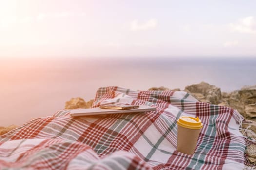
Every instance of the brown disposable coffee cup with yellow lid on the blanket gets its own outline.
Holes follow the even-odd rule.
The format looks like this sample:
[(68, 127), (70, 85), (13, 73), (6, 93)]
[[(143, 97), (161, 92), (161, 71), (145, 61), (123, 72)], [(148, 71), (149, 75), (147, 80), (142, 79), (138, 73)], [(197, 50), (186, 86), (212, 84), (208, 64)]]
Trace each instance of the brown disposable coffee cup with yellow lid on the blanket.
[(181, 116), (178, 121), (177, 151), (193, 154), (197, 145), (197, 139), (203, 127), (197, 117)]

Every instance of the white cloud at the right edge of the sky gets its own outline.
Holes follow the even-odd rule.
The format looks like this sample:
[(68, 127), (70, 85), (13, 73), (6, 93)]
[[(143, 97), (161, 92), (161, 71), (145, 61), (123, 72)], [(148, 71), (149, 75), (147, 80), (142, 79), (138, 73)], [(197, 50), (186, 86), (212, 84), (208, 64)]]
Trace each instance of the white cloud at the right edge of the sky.
[(237, 23), (231, 23), (229, 26), (235, 32), (256, 34), (256, 21), (253, 16), (240, 19)]

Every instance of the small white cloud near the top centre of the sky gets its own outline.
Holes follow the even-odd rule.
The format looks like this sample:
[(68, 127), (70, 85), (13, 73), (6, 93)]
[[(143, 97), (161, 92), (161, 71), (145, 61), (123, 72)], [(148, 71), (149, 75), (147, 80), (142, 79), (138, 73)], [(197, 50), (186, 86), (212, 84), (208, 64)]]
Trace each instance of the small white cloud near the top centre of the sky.
[(138, 20), (133, 20), (130, 23), (130, 30), (131, 31), (146, 31), (146, 30), (153, 30), (157, 27), (158, 22), (156, 19), (150, 19), (145, 23), (138, 23)]

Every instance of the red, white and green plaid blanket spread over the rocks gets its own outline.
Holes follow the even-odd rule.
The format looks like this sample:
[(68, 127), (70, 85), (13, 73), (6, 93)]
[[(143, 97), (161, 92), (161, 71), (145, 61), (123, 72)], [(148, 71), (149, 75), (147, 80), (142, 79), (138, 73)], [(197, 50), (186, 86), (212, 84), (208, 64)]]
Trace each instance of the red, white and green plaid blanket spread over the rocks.
[[(0, 169), (241, 170), (245, 141), (242, 116), (198, 102), (186, 92), (100, 88), (93, 107), (107, 103), (149, 105), (148, 113), (71, 118), (70, 110), (30, 120), (0, 136)], [(196, 151), (177, 152), (177, 119), (204, 124)], [(189, 140), (189, 139), (188, 139)]]

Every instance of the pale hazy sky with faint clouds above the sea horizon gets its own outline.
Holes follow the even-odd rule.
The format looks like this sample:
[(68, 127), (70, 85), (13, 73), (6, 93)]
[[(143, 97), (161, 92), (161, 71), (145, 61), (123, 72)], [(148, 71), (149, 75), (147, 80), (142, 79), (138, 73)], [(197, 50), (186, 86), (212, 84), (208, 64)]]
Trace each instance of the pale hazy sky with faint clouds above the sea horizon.
[(0, 0), (0, 58), (256, 57), (256, 0)]

